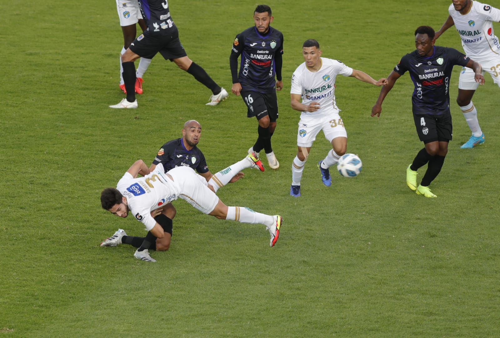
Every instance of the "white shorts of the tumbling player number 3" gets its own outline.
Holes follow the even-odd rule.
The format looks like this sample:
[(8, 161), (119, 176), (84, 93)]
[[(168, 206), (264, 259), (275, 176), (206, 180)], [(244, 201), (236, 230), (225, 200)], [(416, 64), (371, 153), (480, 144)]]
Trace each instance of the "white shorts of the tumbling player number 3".
[(188, 166), (177, 166), (167, 172), (179, 187), (180, 198), (203, 213), (210, 213), (218, 203), (217, 195), (207, 186), (208, 182)]

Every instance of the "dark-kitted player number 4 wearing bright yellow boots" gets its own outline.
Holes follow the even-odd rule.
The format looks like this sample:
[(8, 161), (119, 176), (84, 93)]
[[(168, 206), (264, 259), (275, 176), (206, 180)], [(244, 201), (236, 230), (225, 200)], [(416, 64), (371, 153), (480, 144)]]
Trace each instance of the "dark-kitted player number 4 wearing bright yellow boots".
[[(406, 168), (406, 184), (416, 194), (436, 197), (429, 184), (437, 176), (448, 151), (452, 125), (449, 111), (449, 80), (453, 65), (474, 71), (474, 79), (484, 83), (481, 65), (453, 48), (434, 46), (434, 29), (420, 26), (415, 30), (416, 50), (404, 55), (387, 76), (378, 99), (371, 108), (371, 116), (380, 116), (382, 102), (395, 81), (406, 71), (415, 86), (411, 96), (413, 119), (419, 139), (424, 147)], [(416, 183), (416, 170), (427, 164), (420, 184)]]

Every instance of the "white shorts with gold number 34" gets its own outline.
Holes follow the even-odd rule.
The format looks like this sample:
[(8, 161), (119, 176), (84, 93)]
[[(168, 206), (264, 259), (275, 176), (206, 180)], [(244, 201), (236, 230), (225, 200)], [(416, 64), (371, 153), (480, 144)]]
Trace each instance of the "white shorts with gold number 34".
[(347, 131), (343, 126), (338, 112), (326, 116), (311, 119), (300, 118), (297, 131), (297, 145), (309, 147), (316, 139), (317, 133), (323, 130), (324, 137), (331, 143), (335, 137), (347, 137)]

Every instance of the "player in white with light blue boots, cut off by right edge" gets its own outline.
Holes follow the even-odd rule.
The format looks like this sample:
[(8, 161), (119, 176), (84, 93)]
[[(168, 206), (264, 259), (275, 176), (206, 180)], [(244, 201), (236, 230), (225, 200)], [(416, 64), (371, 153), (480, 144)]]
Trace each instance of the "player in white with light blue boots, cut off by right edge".
[[(483, 75), (484, 71), (487, 71), (493, 82), (500, 87), (500, 43), (492, 25), (492, 22), (500, 21), (500, 9), (472, 0), (452, 0), (448, 12), (448, 18), (436, 31), (434, 39), (455, 25), (465, 54), (479, 62)], [(477, 110), (472, 103), (472, 95), (478, 85), (479, 83), (474, 81), (474, 71), (463, 67), (458, 79), (456, 103), (460, 106), (472, 135), (460, 148), (472, 148), (484, 142), (484, 133), (477, 120)]]

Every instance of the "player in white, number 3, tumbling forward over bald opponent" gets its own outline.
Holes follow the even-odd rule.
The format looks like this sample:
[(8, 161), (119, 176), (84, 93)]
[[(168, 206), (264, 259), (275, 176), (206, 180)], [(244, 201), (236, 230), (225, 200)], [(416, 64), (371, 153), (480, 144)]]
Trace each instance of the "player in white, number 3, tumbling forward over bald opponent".
[[(137, 177), (138, 174), (143, 177)], [(142, 222), (148, 230), (144, 242), (154, 242), (165, 234), (154, 216), (162, 212), (163, 205), (177, 199), (184, 199), (199, 211), (220, 219), (231, 219), (241, 223), (264, 224), (271, 236), (269, 245), (273, 246), (279, 236), (282, 218), (279, 215), (266, 215), (239, 206), (227, 206), (209, 188), (211, 185), (193, 169), (186, 166), (172, 168), (165, 173), (162, 165), (149, 173), (149, 168), (142, 160), (137, 160), (118, 181), (116, 188), (105, 188), (100, 200), (103, 209), (120, 217), (126, 217), (128, 211)], [(134, 257), (146, 261), (155, 261), (150, 257), (148, 245), (137, 248)]]

